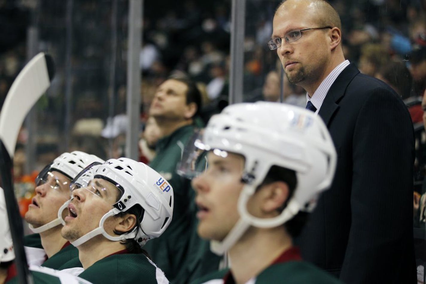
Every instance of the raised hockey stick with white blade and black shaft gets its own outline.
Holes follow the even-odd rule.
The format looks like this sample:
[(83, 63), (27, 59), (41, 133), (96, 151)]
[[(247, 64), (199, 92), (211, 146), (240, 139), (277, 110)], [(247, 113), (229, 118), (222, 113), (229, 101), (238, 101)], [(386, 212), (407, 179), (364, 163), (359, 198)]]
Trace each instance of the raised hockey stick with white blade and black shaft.
[(0, 174), (19, 283), (32, 283), (23, 246), (23, 227), (13, 190), (13, 155), (19, 129), (29, 110), (46, 92), (54, 76), (52, 57), (40, 52), (14, 80), (0, 112)]

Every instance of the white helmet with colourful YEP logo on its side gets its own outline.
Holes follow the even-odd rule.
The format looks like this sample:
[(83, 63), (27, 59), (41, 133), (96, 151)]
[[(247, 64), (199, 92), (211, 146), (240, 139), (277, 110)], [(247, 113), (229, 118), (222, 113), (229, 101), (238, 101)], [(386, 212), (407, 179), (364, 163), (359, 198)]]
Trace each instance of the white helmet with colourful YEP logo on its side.
[[(93, 178), (101, 178), (115, 185), (121, 195), (112, 209), (101, 218), (99, 227), (72, 242), (75, 247), (100, 234), (111, 241), (133, 238), (143, 246), (148, 240), (159, 237), (169, 226), (173, 216), (173, 188), (146, 164), (129, 158), (109, 159), (104, 164), (94, 163), (72, 181), (72, 190), (87, 188)], [(135, 205), (140, 205), (143, 212), (140, 228), (136, 226), (132, 232), (119, 236), (109, 235), (104, 230), (104, 222), (109, 216), (126, 212)]]

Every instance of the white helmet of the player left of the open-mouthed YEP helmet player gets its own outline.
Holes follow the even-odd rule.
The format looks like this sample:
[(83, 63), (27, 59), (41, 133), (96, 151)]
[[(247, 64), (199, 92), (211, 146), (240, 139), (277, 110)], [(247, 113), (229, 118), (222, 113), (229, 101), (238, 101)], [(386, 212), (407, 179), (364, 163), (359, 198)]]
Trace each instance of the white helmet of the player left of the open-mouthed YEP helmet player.
[[(95, 155), (90, 155), (81, 151), (73, 151), (71, 153), (65, 152), (40, 171), (40, 173), (37, 175), (37, 178), (35, 179), (35, 184), (38, 186), (46, 182), (49, 175), (54, 176), (54, 174), (52, 174), (53, 171), (60, 172), (72, 180), (78, 175), (79, 172), (81, 172), (84, 168), (86, 168), (86, 166), (92, 164), (93, 162), (103, 163), (104, 160), (98, 158)], [(58, 218), (37, 228), (34, 228), (31, 224), (29, 224), (29, 228), (35, 233), (40, 233), (58, 226), (62, 223), (62, 217), (60, 214), (62, 214), (63, 209), (65, 208), (65, 204), (60, 207), (58, 210)]]

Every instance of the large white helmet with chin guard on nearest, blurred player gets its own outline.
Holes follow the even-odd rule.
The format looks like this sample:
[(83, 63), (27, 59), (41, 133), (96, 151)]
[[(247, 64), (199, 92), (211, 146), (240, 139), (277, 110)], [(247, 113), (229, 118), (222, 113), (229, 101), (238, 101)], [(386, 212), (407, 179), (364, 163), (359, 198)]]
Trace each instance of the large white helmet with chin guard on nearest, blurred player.
[[(211, 249), (217, 254), (228, 250), (250, 225), (277, 227), (299, 211), (311, 211), (320, 192), (331, 185), (336, 168), (336, 151), (322, 119), (314, 112), (283, 103), (227, 106), (210, 118), (204, 133), (194, 144), (198, 149), (212, 150), (216, 155), (232, 152), (245, 157), (242, 176), (245, 186), (238, 201), (241, 218), (222, 242), (212, 241)], [(200, 156), (192, 154), (192, 158)], [(187, 168), (196, 169), (196, 162), (185, 159), (182, 160)], [(256, 218), (248, 212), (247, 202), (271, 166), (294, 170), (297, 186), (280, 215)]]

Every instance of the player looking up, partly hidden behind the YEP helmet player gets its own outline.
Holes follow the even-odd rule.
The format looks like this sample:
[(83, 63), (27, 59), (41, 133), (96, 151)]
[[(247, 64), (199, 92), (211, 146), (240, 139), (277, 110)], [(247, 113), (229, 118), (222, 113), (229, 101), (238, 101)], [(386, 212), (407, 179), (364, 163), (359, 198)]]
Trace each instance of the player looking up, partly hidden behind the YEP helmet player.
[[(30, 265), (42, 265), (58, 269), (72, 258), (78, 257), (78, 250), (62, 238), (62, 224), (58, 212), (70, 199), (70, 182), (86, 166), (103, 162), (95, 155), (74, 151), (63, 153), (47, 165), (37, 176), (35, 197), (29, 205), (25, 220), (35, 234), (24, 237), (27, 260)], [(81, 264), (76, 264), (81, 266)], [(8, 279), (14, 277), (14, 265), (9, 267)]]

